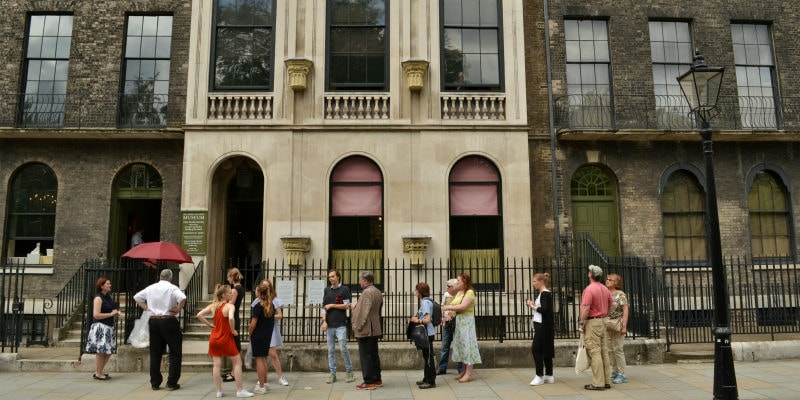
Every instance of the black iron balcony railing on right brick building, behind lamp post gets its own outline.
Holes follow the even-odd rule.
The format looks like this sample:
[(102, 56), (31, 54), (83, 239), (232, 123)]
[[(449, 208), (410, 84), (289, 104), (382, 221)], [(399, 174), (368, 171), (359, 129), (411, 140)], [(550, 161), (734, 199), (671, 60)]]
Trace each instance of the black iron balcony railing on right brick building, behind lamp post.
[[(723, 96), (714, 129), (800, 129), (800, 98)], [(563, 95), (554, 99), (559, 130), (690, 130), (698, 124), (682, 95)]]

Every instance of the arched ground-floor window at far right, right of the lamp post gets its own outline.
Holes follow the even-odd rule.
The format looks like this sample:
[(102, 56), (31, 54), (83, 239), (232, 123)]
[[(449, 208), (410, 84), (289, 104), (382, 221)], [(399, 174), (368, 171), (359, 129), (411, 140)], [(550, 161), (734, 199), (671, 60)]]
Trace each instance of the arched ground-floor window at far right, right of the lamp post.
[(794, 258), (789, 192), (771, 171), (753, 178), (747, 196), (753, 258)]

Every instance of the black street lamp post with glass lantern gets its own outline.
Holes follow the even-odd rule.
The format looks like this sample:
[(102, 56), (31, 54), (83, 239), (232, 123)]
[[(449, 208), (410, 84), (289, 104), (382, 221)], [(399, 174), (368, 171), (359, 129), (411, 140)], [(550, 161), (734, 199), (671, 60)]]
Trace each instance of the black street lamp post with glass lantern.
[(725, 265), (722, 263), (722, 247), (717, 212), (717, 188), (714, 182), (714, 149), (711, 141), (711, 124), (717, 111), (719, 89), (722, 84), (723, 67), (706, 65), (700, 50), (695, 51), (694, 65), (678, 77), (681, 90), (689, 103), (691, 112), (700, 119), (700, 136), (703, 139), (703, 158), (706, 162), (706, 226), (708, 248), (711, 251), (711, 274), (714, 284), (714, 399), (738, 399), (736, 371), (733, 368), (730, 305)]

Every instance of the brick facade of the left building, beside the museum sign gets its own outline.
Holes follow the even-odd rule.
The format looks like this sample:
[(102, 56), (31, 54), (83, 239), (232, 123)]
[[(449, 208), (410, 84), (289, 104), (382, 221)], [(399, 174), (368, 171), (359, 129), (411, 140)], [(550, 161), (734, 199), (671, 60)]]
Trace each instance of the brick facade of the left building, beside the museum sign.
[[(119, 257), (136, 218), (152, 225), (150, 240), (179, 240), (190, 10), (189, 1), (137, 0), (10, 0), (0, 8), (0, 249), (19, 260), (41, 244), (40, 263), (27, 268), (30, 293), (53, 295), (88, 258)], [(149, 33), (160, 17), (162, 31)], [(133, 43), (153, 37), (164, 54)], [(131, 62), (161, 64), (134, 72)], [(134, 94), (126, 83), (136, 79), (162, 87)], [(129, 102), (132, 95), (139, 100)], [(22, 204), (40, 194), (31, 167), (57, 188), (46, 212)], [(136, 192), (121, 176), (131, 168), (155, 171), (157, 187)], [(143, 204), (150, 215), (135, 217)]]

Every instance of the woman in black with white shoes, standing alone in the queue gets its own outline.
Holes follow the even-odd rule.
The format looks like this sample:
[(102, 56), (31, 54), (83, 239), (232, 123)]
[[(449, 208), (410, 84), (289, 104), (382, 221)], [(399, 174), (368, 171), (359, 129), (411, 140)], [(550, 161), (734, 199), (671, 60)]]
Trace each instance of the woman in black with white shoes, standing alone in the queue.
[(538, 273), (533, 276), (533, 288), (538, 292), (536, 300), (528, 300), (533, 310), (533, 343), (531, 353), (536, 365), (536, 376), (531, 386), (555, 383), (553, 378), (553, 357), (555, 357), (555, 328), (553, 318), (553, 294), (547, 288), (550, 274)]

